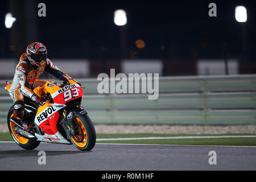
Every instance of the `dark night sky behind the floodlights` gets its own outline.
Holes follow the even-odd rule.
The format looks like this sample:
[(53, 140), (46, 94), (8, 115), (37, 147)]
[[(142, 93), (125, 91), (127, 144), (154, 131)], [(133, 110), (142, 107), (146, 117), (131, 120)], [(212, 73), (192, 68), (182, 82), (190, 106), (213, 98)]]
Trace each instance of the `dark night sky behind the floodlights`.
[[(224, 42), (230, 57), (242, 54), (242, 26), (234, 18), (237, 5), (247, 8), (247, 57), (256, 60), (255, 1), (38, 1), (46, 3), (47, 16), (37, 18), (38, 41), (44, 43), (51, 57), (115, 58), (120, 52), (119, 28), (113, 22), (116, 9), (127, 12), (127, 51), (137, 51), (137, 58), (197, 59), (221, 57)], [(208, 5), (217, 5), (217, 17), (208, 16)], [(5, 28), (7, 1), (0, 7), (1, 34)], [(18, 18), (18, 17), (17, 17)], [(7, 39), (0, 35), (0, 38)], [(142, 39), (146, 47), (138, 49)], [(8, 44), (8, 43), (7, 43)], [(9, 57), (10, 50), (1, 47), (0, 57)], [(128, 54), (127, 57), (130, 57)]]

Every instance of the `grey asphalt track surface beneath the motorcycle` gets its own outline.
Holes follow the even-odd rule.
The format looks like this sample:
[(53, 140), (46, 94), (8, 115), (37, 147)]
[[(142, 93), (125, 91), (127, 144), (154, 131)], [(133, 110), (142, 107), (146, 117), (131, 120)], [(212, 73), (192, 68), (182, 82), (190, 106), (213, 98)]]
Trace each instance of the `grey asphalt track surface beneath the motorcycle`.
[[(46, 164), (39, 165), (39, 151)], [(217, 164), (210, 165), (209, 151)], [(32, 151), (16, 143), (0, 143), (0, 170), (255, 170), (256, 147), (96, 144), (82, 152), (72, 145), (41, 143)]]

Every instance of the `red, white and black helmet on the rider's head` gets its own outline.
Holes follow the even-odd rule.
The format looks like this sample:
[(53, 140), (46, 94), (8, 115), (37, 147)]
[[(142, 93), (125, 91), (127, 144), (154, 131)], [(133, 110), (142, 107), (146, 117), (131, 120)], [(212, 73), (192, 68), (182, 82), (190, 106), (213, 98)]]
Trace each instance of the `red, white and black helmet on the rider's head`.
[(42, 43), (34, 42), (27, 46), (27, 59), (30, 61), (32, 68), (38, 68), (44, 65), (47, 60), (47, 49)]

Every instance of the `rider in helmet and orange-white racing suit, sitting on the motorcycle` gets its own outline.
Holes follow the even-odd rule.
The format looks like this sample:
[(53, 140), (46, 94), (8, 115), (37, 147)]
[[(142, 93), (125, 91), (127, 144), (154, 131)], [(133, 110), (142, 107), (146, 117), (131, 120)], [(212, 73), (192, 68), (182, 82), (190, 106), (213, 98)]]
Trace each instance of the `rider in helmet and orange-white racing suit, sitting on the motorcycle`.
[[(69, 80), (76, 81), (67, 74), (61, 72), (60, 69), (47, 58), (47, 49), (42, 43), (34, 42), (29, 44), (26, 53), (23, 53), (20, 56), (19, 63), (15, 69), (13, 82), (6, 82), (5, 84), (6, 91), (14, 101), (13, 114), (20, 120), (20, 122), (22, 122), (22, 126), (27, 131), (30, 131), (32, 126), (26, 120), (24, 96), (29, 97), (32, 101), (38, 103), (46, 101), (45, 97), (38, 96), (33, 91), (34, 88), (45, 83), (45, 81), (38, 80), (38, 77), (42, 75), (44, 71), (50, 73), (59, 80), (67, 82), (69, 82)], [(81, 86), (80, 82), (77, 82), (77, 84)]]

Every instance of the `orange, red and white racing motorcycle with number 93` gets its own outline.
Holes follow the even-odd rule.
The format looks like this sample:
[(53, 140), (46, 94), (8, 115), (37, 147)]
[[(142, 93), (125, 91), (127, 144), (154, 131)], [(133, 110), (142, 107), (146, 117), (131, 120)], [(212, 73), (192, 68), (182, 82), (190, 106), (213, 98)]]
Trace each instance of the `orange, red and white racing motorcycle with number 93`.
[(22, 148), (32, 150), (40, 142), (73, 144), (82, 151), (92, 150), (96, 143), (96, 132), (88, 113), (81, 106), (83, 90), (71, 80), (62, 85), (46, 81), (34, 89), (46, 102), (36, 103), (24, 97), (24, 108), (31, 130), (25, 130), (13, 114), (11, 106), (7, 124), (11, 137)]

